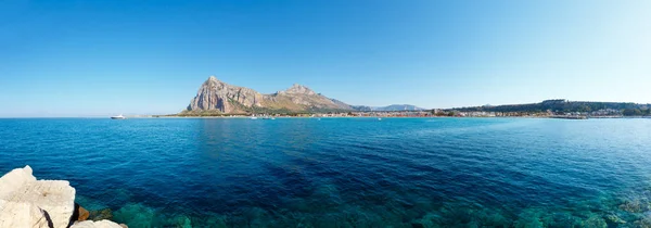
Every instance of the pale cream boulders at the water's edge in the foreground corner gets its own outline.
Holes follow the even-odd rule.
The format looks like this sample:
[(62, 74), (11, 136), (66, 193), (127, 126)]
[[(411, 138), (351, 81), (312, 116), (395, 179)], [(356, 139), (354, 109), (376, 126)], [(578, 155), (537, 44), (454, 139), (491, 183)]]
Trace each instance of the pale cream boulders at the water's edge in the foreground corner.
[(75, 205), (66, 180), (37, 180), (31, 167), (0, 177), (0, 228), (123, 228), (110, 220), (80, 221), (87, 211)]

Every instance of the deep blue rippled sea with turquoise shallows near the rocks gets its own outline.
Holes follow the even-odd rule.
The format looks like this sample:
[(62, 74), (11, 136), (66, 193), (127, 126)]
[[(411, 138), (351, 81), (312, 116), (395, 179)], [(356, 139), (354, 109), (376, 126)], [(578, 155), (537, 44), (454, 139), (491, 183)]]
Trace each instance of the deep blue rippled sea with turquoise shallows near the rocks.
[(651, 225), (651, 119), (0, 119), (24, 165), (130, 227)]

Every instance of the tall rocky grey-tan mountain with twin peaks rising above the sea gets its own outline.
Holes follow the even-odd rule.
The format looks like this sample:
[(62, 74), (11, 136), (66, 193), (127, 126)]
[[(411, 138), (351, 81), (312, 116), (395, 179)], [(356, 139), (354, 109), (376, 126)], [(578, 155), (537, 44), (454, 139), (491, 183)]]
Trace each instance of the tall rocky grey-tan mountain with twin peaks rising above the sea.
[(253, 89), (228, 85), (210, 76), (196, 92), (187, 112), (246, 113), (246, 112), (304, 112), (321, 110), (352, 110), (343, 102), (334, 102), (311, 89), (294, 84), (273, 94), (261, 94)]

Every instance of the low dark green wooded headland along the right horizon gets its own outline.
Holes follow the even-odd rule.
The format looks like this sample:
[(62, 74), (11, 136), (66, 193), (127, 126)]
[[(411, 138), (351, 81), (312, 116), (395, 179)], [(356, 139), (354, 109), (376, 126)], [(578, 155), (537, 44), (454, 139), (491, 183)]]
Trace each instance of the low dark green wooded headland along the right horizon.
[(546, 100), (540, 103), (529, 104), (508, 104), (508, 105), (484, 105), (456, 107), (447, 111), (456, 110), (460, 112), (591, 112), (598, 110), (648, 110), (648, 104), (636, 104), (631, 102), (591, 102), (591, 101), (567, 101), (564, 99)]

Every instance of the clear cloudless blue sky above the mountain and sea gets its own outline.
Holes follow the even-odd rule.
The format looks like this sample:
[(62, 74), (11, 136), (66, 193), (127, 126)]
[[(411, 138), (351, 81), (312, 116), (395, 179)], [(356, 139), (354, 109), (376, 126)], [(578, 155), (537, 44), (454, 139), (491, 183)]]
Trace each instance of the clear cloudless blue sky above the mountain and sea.
[(651, 102), (651, 1), (0, 1), (0, 116), (176, 113), (210, 75), (350, 104)]

